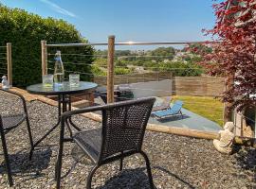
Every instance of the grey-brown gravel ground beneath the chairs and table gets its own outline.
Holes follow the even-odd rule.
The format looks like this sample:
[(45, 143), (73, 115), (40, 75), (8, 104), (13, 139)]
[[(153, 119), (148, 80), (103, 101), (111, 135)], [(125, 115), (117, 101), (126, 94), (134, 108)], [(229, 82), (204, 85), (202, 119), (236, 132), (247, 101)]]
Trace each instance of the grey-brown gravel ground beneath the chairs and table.
[[(34, 139), (42, 136), (57, 120), (57, 108), (33, 101), (27, 103)], [(20, 103), (0, 92), (0, 111), (18, 111)], [(101, 125), (83, 117), (75, 122), (84, 129)], [(36, 148), (28, 161), (26, 125), (7, 135), (15, 188), (55, 188), (54, 166), (59, 129)], [(144, 151), (149, 155), (156, 188), (256, 188), (256, 149), (236, 146), (230, 156), (214, 150), (212, 141), (146, 131)], [(80, 158), (77, 158), (80, 156)], [(65, 143), (62, 185), (85, 188), (92, 164), (75, 144)], [(145, 164), (139, 155), (102, 166), (93, 179), (94, 188), (149, 188)], [(4, 158), (0, 155), (0, 188), (8, 188)]]

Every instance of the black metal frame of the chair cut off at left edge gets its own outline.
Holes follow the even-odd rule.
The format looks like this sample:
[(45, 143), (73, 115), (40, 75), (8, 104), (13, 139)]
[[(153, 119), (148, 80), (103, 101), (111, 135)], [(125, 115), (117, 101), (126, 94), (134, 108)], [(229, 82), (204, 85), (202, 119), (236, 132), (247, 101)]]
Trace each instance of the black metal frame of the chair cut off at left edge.
[[(12, 176), (11, 176), (11, 169), (10, 169), (10, 164), (9, 164), (9, 154), (8, 154), (8, 147), (7, 147), (7, 143), (6, 143), (6, 134), (12, 130), (12, 129), (15, 129), (17, 128), (19, 125), (21, 125), (25, 120), (26, 120), (26, 123), (27, 123), (27, 131), (28, 131), (28, 137), (29, 137), (29, 143), (30, 143), (30, 146), (32, 147), (33, 146), (33, 138), (32, 138), (32, 133), (31, 133), (31, 128), (30, 128), (30, 123), (29, 123), (29, 119), (28, 119), (28, 113), (27, 113), (27, 104), (26, 104), (26, 100), (24, 98), (23, 95), (21, 94), (17, 94), (15, 92), (12, 92), (12, 91), (9, 91), (9, 90), (3, 90), (3, 89), (0, 89), (1, 91), (4, 91), (6, 93), (9, 93), (9, 94), (13, 94), (13, 95), (16, 95), (18, 96), (21, 100), (22, 100), (22, 103), (23, 103), (23, 109), (24, 109), (24, 113), (23, 113), (23, 118), (15, 123), (14, 125), (12, 125), (11, 127), (9, 128), (5, 128), (5, 124), (4, 124), (4, 119), (5, 117), (7, 116), (2, 116), (0, 114), (0, 134), (1, 134), (1, 141), (2, 141), (2, 146), (3, 146), (3, 152), (4, 152), (4, 157), (5, 157), (5, 162), (6, 162), (6, 169), (7, 169), (7, 173), (8, 173), (8, 180), (9, 180), (9, 186), (12, 186), (13, 185), (13, 180), (12, 180)], [(11, 116), (15, 116), (15, 115), (10, 115), (9, 117)]]

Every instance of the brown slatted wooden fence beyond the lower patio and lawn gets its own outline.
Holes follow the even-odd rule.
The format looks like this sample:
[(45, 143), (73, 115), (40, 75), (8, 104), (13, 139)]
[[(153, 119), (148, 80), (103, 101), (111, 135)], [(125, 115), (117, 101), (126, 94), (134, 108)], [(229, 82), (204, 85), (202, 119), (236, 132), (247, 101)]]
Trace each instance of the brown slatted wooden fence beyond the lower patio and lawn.
[[(218, 96), (225, 90), (222, 77), (172, 77), (171, 73), (146, 73), (115, 76), (115, 85), (172, 79), (173, 94)], [(94, 82), (106, 85), (106, 77), (94, 77)]]

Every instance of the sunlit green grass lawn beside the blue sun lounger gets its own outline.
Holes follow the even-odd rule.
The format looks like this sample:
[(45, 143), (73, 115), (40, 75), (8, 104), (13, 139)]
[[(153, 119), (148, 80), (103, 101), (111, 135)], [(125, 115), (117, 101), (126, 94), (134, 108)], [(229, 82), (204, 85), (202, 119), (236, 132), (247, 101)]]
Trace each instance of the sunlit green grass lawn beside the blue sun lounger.
[(223, 103), (219, 99), (192, 95), (174, 95), (173, 99), (182, 100), (185, 109), (202, 115), (223, 127)]

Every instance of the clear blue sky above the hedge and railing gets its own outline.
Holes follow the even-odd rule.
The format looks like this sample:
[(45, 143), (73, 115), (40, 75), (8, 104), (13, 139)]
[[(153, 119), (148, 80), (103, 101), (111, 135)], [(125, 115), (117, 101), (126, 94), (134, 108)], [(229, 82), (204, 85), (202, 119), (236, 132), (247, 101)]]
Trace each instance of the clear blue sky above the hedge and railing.
[(205, 41), (212, 0), (0, 0), (10, 8), (64, 19), (90, 43)]

